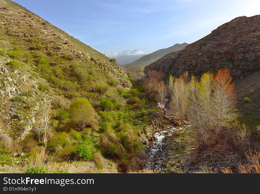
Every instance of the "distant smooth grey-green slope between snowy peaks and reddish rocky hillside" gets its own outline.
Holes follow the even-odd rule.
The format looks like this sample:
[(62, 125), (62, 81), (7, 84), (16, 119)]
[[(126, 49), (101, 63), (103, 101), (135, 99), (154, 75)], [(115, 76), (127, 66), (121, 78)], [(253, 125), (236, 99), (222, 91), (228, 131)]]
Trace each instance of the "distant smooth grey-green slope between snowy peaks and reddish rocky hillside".
[(150, 63), (155, 62), (156, 60), (165, 56), (168, 53), (178, 51), (178, 50), (185, 48), (187, 45), (189, 45), (189, 44), (188, 43), (182, 43), (182, 44), (177, 43), (171, 47), (156, 50), (155, 52), (145, 55), (145, 56), (139, 58), (137, 61), (134, 61), (133, 63), (128, 63), (124, 66), (126, 66), (126, 67), (144, 67), (144, 66), (149, 65)]

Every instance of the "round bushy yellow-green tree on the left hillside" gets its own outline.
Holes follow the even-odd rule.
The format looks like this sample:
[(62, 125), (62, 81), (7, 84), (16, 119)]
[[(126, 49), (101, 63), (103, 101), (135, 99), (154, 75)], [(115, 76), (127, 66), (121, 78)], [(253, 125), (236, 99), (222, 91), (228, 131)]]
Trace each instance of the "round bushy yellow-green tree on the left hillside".
[(71, 105), (69, 106), (69, 117), (73, 122), (79, 125), (81, 130), (86, 125), (96, 122), (96, 115), (97, 113), (94, 108), (84, 97), (71, 102)]

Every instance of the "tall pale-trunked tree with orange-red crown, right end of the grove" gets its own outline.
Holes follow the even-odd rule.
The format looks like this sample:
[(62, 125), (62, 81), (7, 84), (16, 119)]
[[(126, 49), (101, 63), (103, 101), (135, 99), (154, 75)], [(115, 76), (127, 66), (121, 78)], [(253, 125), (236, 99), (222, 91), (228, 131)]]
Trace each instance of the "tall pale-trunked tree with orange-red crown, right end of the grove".
[(213, 79), (213, 100), (217, 114), (217, 125), (215, 131), (218, 133), (221, 126), (226, 121), (234, 118), (233, 110), (235, 108), (236, 93), (235, 83), (231, 82), (232, 77), (229, 70), (219, 69)]

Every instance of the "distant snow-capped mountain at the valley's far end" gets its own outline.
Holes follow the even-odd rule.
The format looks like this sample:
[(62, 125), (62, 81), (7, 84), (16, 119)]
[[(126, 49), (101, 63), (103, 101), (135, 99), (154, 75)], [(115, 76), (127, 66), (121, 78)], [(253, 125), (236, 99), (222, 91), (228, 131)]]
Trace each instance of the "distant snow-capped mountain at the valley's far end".
[(131, 49), (131, 50), (124, 50), (120, 53), (113, 52), (113, 53), (108, 53), (105, 52), (103, 53), (105, 56), (109, 58), (115, 58), (116, 62), (120, 65), (124, 65), (127, 63), (132, 63), (136, 61), (137, 59), (141, 58), (144, 55), (147, 55), (148, 53), (144, 53), (140, 50), (137, 49)]

